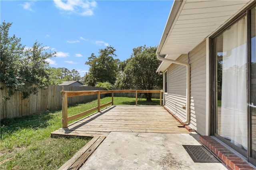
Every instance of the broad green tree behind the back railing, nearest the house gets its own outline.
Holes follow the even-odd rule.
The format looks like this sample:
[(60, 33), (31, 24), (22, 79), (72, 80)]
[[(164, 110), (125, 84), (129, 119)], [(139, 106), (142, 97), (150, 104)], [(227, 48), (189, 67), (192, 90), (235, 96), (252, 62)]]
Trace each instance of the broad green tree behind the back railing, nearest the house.
[[(116, 87), (120, 89), (152, 90), (162, 87), (162, 75), (156, 72), (160, 61), (156, 58), (157, 47), (139, 46), (133, 49), (124, 71), (121, 71)], [(144, 93), (152, 101), (152, 93)]]

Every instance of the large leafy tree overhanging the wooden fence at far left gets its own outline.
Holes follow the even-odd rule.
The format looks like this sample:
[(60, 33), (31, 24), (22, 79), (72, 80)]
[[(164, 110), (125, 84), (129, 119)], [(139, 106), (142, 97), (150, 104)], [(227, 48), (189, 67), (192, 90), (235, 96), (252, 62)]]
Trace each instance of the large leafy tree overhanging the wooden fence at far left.
[(0, 79), (9, 89), (5, 99), (10, 99), (15, 91), (21, 91), (24, 99), (32, 93), (36, 94), (38, 88), (48, 86), (49, 63), (46, 59), (54, 57), (55, 53), (46, 52), (48, 49), (38, 42), (35, 42), (31, 48), (25, 49), (20, 43), (21, 38), (15, 35), (9, 36), (11, 25), (6, 22), (0, 25)]

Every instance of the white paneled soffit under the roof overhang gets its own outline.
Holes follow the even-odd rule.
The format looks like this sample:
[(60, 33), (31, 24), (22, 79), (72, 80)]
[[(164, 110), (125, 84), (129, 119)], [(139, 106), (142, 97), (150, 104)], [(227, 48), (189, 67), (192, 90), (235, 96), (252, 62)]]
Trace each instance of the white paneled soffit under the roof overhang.
[[(178, 0), (180, 1), (180, 0)], [(170, 29), (167, 36), (162, 36), (157, 52), (168, 54), (168, 59), (177, 59), (181, 54), (187, 54), (207, 36), (217, 30), (228, 19), (239, 12), (250, 0), (184, 0), (176, 16), (171, 11), (166, 23)], [(177, 3), (177, 2), (174, 2)], [(174, 7), (173, 7), (174, 8)], [(172, 10), (175, 10), (173, 9)], [(168, 23), (172, 22), (172, 23)], [(167, 28), (170, 26), (169, 28)], [(164, 41), (164, 42), (163, 42)], [(164, 71), (169, 64), (161, 63), (158, 71)]]

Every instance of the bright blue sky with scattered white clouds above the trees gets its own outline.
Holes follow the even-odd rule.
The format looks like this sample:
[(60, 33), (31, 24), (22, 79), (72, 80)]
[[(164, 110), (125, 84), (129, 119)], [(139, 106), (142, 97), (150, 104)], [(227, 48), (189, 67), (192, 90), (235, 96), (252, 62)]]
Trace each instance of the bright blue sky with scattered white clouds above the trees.
[(140, 45), (160, 42), (173, 1), (1, 0), (1, 23), (26, 47), (38, 41), (56, 57), (51, 67), (76, 69), (83, 76), (91, 53), (111, 45), (121, 61)]

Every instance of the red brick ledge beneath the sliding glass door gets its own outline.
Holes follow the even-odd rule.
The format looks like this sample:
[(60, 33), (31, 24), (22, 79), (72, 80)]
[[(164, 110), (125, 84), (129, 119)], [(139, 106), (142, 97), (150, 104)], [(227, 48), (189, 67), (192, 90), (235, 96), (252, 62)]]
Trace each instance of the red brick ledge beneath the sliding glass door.
[(230, 170), (255, 170), (255, 168), (250, 166), (248, 162), (242, 160), (211, 136), (200, 136), (199, 142)]

